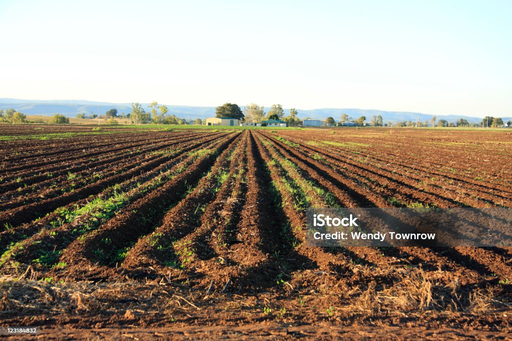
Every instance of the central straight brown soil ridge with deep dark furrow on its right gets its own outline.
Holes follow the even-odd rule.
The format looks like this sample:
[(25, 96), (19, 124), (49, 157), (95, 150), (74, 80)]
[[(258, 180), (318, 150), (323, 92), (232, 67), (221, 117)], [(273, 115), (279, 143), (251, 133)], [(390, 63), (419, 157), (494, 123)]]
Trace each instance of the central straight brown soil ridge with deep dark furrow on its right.
[[(209, 261), (203, 270), (205, 281), (214, 281), (222, 289), (228, 280), (227, 291), (255, 292), (275, 287), (276, 279), (302, 270), (311, 260), (298, 254), (292, 245), (293, 234), (288, 229), (288, 218), (280, 209), (278, 193), (271, 193), (271, 178), (265, 171), (254, 132), (247, 145), (246, 202), (236, 226), (237, 243), (231, 244), (221, 255), (226, 260), (219, 264)], [(237, 193), (237, 188), (233, 193)], [(228, 208), (228, 210), (231, 208)], [(212, 238), (214, 240), (214, 238)], [(229, 245), (229, 244), (228, 244)]]

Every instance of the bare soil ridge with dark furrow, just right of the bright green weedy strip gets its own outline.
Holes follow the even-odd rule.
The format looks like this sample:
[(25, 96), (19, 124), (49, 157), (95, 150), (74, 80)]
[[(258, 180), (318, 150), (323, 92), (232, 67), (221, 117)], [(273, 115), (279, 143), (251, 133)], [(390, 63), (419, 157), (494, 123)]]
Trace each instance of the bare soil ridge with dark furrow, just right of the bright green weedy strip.
[[(238, 139), (239, 135), (239, 133), (229, 134), (227, 140), (216, 145), (217, 151), (224, 150)], [(210, 165), (216, 157), (215, 152), (201, 156), (194, 165), (189, 166), (150, 195), (130, 204), (123, 213), (86, 235), (83, 240), (71, 243), (62, 253), (60, 261), (72, 265), (62, 272), (59, 271), (56, 276), (86, 280), (126, 276), (124, 269), (117, 272), (111, 267), (114, 265), (112, 262), (115, 257), (115, 253), (112, 253), (116, 249), (132, 246), (139, 237), (151, 233), (155, 223), (162, 218), (170, 206), (180, 202), (189, 184), (194, 186), (198, 183), (204, 172), (211, 168)], [(105, 240), (110, 240), (110, 243), (105, 244)], [(106, 257), (103, 257), (105, 255)]]

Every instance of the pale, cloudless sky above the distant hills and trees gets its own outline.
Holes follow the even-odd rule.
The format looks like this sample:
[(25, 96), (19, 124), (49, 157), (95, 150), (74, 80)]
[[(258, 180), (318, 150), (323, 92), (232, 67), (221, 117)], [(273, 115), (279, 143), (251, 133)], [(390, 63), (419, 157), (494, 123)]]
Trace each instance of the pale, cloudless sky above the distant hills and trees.
[(512, 116), (512, 1), (0, 0), (0, 97)]

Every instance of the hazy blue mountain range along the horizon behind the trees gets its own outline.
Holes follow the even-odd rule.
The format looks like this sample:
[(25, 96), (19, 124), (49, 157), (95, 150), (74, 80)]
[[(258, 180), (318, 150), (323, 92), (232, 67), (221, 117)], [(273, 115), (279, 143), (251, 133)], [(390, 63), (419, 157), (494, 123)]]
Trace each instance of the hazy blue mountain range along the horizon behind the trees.
[[(141, 103), (145, 110), (148, 110), (150, 103)], [(104, 114), (107, 110), (112, 108), (117, 109), (119, 113), (129, 113), (132, 110), (131, 103), (109, 103), (109, 102), (95, 102), (86, 100), (19, 100), (12, 98), (0, 98), (0, 109), (13, 108), (19, 112), (23, 112), (27, 115), (53, 115), (54, 113), (60, 113), (68, 117), (75, 117), (78, 113), (86, 113), (89, 115), (92, 113)], [(166, 105), (169, 109), (170, 114), (174, 114), (178, 117), (185, 119), (204, 119), (207, 117), (215, 116), (214, 106), (185, 106), (185, 105)], [(243, 107), (241, 107), (243, 109)], [(270, 108), (266, 107), (267, 112)], [(420, 121), (430, 120), (432, 116), (436, 116), (438, 120), (446, 120), (449, 122), (455, 122), (458, 119), (466, 119), (470, 123), (479, 123), (482, 118), (463, 116), (463, 115), (436, 115), (426, 114), (421, 112), (408, 112), (408, 111), (383, 111), (374, 109), (356, 109), (356, 108), (321, 108), (321, 109), (310, 109), (302, 110), (297, 109), (298, 116), (302, 119), (310, 117), (312, 119), (326, 119), (327, 117), (333, 117), (336, 121), (342, 116), (342, 113), (356, 119), (360, 116), (366, 116), (369, 121), (373, 115), (382, 116), (383, 121), (396, 122), (396, 121), (416, 121), (418, 118)], [(288, 109), (285, 109), (288, 113)], [(492, 116), (492, 114), (490, 114)], [(512, 117), (503, 117), (503, 121), (512, 120)]]

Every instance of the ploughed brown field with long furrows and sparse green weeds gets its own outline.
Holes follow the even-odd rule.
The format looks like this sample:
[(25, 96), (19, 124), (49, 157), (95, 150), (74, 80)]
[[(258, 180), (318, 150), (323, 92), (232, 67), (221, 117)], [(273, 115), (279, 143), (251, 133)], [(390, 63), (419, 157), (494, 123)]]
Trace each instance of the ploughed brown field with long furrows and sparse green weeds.
[(0, 129), (5, 325), (510, 331), (511, 249), (304, 244), (309, 207), (512, 207), (505, 131)]

